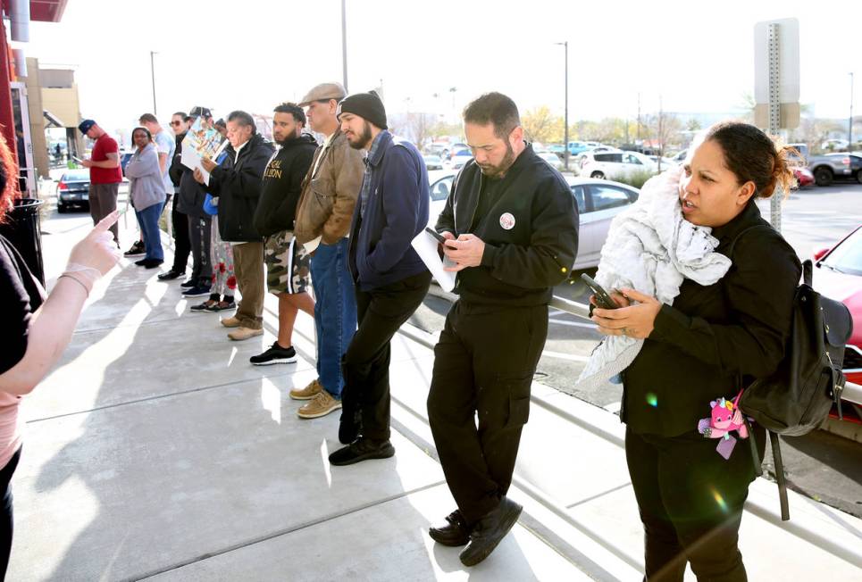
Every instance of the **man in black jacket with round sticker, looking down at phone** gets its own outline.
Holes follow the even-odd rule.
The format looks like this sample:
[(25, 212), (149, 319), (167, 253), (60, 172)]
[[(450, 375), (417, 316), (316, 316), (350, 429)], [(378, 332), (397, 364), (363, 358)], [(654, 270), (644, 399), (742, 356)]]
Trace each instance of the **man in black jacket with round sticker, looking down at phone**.
[[(578, 249), (578, 212), (565, 179), (523, 141), (515, 103), (499, 93), (464, 109), (474, 159), (437, 222), (456, 263), (460, 299), (434, 348), (428, 418), (457, 509), (431, 528), (443, 545), (484, 560), (515, 525), (506, 497), (530, 387), (548, 333), (552, 287)], [(475, 417), (478, 412), (479, 426)], [(469, 543), (468, 543), (469, 542)]]

